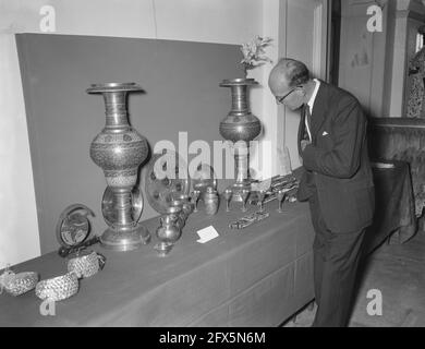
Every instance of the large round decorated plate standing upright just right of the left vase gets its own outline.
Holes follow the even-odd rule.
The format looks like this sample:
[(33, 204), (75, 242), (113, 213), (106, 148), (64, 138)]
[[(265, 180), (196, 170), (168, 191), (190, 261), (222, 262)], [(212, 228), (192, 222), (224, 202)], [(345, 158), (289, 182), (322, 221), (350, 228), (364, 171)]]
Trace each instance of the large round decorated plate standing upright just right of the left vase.
[(173, 195), (189, 195), (191, 180), (187, 164), (172, 151), (154, 154), (145, 172), (145, 194), (149, 205), (167, 214)]

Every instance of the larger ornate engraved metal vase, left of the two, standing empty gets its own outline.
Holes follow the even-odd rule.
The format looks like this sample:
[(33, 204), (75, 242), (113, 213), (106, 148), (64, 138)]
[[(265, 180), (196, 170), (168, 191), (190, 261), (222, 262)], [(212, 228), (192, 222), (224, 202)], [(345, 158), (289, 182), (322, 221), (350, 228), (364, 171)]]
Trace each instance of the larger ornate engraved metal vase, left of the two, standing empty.
[(102, 202), (109, 228), (100, 242), (116, 251), (135, 250), (150, 240), (148, 230), (138, 224), (142, 192), (132, 193), (138, 167), (148, 155), (146, 139), (131, 127), (127, 117), (126, 96), (138, 91), (142, 88), (134, 83), (95, 84), (87, 89), (88, 94), (101, 94), (106, 105), (106, 125), (92, 142), (90, 157), (104, 170), (106, 194), (110, 193), (106, 196), (111, 196)]

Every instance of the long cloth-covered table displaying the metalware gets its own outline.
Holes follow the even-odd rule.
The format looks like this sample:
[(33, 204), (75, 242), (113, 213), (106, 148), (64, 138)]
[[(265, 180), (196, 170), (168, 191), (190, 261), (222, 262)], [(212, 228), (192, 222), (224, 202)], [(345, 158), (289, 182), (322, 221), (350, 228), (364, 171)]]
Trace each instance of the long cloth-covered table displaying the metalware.
[[(97, 275), (82, 279), (76, 296), (40, 315), (34, 291), (0, 296), (0, 326), (277, 326), (314, 298), (313, 227), (305, 203), (265, 205), (270, 217), (243, 230), (228, 228), (239, 204), (206, 217), (193, 214), (168, 257), (154, 245), (158, 218), (146, 221), (150, 244), (132, 252), (96, 246), (106, 258)], [(236, 208), (238, 206), (238, 208)], [(199, 204), (202, 209), (202, 204)], [(251, 206), (248, 213), (256, 207)], [(196, 231), (212, 225), (220, 237), (201, 244)], [(13, 267), (41, 278), (63, 275), (57, 253)]]

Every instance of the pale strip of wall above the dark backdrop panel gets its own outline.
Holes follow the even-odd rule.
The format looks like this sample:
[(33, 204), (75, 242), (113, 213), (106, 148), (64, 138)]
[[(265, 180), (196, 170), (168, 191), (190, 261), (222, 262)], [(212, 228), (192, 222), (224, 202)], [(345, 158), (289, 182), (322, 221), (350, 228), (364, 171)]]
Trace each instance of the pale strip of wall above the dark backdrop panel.
[(241, 44), (262, 31), (263, 0), (0, 0), (0, 31), (40, 33), (44, 5), (56, 34)]

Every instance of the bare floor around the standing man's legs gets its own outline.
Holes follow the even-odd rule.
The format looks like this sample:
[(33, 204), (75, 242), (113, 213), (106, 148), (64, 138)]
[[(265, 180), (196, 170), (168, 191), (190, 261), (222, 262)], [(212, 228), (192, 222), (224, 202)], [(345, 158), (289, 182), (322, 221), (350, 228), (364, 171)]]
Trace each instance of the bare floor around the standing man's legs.
[[(382, 296), (382, 314), (369, 315), (371, 290)], [(374, 304), (372, 304), (374, 305)], [(309, 327), (314, 310), (305, 309), (284, 327)], [(351, 316), (350, 327), (425, 326), (425, 232), (404, 244), (384, 244), (366, 264)]]

